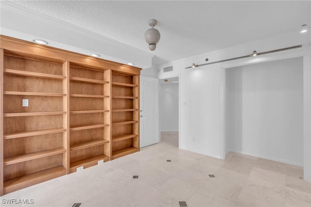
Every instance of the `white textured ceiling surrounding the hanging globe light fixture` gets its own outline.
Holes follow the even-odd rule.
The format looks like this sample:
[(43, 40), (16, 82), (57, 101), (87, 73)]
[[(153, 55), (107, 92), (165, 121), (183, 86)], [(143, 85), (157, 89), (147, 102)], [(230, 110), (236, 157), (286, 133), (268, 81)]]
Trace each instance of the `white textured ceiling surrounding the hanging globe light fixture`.
[[(22, 7), (155, 54), (153, 64), (299, 30), (311, 24), (311, 1), (20, 0)], [(154, 52), (144, 33), (155, 18)]]

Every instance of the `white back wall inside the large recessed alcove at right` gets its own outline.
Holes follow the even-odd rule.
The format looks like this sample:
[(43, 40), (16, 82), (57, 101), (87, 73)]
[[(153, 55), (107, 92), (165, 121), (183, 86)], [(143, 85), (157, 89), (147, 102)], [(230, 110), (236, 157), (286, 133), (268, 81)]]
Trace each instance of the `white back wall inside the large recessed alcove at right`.
[(303, 166), (303, 58), (225, 73), (226, 150)]

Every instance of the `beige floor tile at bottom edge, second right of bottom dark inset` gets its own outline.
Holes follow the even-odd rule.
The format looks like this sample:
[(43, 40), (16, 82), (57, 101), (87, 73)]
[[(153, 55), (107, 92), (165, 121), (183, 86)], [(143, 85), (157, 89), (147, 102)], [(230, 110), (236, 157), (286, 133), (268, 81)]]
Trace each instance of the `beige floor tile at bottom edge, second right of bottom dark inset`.
[(284, 207), (285, 200), (243, 188), (235, 204), (241, 207)]

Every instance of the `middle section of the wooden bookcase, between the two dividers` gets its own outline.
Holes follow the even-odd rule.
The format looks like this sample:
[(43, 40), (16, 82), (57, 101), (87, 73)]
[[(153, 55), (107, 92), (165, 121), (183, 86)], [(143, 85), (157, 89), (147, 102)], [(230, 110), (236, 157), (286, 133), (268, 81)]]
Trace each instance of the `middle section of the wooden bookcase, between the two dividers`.
[[(70, 64), (70, 172), (110, 159), (110, 70)], [(100, 158), (100, 160), (95, 160)], [(104, 161), (105, 161), (104, 160)], [(96, 161), (96, 162), (95, 162)]]

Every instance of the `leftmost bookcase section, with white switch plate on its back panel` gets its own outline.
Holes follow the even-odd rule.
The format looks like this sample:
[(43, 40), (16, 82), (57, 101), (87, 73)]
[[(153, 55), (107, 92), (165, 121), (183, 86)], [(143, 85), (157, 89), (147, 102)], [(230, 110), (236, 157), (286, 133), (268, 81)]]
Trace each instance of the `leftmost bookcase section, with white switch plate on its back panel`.
[(1, 56), (3, 194), (67, 173), (68, 63), (6, 50)]

